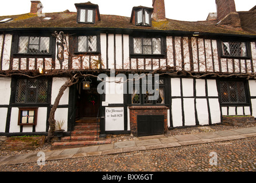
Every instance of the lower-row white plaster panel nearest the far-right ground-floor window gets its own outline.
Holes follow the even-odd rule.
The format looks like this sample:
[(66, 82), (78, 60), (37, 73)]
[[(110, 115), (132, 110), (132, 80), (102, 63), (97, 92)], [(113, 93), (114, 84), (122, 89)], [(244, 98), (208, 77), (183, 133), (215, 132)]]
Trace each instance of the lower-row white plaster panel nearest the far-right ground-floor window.
[(209, 98), (212, 124), (221, 122), (220, 105), (218, 98)]

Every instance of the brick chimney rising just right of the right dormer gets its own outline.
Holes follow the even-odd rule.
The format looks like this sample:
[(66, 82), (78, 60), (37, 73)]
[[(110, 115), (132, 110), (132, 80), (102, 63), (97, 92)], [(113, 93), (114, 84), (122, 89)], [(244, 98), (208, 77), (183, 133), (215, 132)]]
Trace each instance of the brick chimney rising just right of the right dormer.
[(164, 0), (153, 0), (153, 19), (155, 21), (166, 21)]

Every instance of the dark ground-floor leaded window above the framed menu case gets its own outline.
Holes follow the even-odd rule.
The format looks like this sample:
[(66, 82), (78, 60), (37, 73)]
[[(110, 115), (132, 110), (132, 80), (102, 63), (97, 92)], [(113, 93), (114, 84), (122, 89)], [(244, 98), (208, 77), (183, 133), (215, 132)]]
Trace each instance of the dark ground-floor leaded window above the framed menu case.
[(47, 79), (17, 79), (15, 103), (46, 103), (47, 91)]

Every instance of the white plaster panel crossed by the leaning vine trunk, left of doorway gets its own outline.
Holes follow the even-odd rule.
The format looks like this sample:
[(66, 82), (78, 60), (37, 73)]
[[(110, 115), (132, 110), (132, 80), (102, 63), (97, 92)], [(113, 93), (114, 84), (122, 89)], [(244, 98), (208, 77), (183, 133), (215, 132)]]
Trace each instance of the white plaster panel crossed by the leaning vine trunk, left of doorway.
[[(53, 105), (57, 95), (59, 94), (60, 87), (67, 81), (68, 78), (55, 77), (52, 79), (52, 101)], [(69, 87), (65, 90), (63, 96), (60, 99), (59, 105), (68, 105)]]

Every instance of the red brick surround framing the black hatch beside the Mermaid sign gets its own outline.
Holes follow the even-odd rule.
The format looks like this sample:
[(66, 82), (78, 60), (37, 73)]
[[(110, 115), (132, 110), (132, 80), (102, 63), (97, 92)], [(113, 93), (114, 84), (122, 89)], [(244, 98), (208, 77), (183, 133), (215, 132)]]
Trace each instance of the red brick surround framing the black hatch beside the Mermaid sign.
[(130, 110), (130, 129), (131, 133), (137, 135), (137, 116), (138, 115), (164, 115), (164, 132), (168, 131), (168, 110), (166, 106), (131, 106)]

